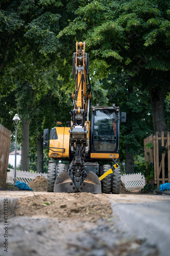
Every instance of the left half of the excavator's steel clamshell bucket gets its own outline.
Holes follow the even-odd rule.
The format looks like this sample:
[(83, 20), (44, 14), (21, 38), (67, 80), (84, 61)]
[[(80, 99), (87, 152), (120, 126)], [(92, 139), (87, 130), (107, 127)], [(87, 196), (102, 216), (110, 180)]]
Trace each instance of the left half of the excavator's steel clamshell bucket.
[(67, 171), (64, 170), (55, 180), (54, 184), (54, 192), (58, 193), (73, 193), (76, 192), (77, 188), (75, 184), (72, 182), (70, 176)]

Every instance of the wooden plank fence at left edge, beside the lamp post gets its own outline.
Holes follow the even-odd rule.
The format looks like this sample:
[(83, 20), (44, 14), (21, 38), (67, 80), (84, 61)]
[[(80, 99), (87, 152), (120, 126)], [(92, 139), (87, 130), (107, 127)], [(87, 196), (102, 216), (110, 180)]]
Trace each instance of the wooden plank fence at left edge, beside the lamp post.
[(0, 185), (5, 186), (7, 180), (8, 158), (12, 132), (0, 124)]

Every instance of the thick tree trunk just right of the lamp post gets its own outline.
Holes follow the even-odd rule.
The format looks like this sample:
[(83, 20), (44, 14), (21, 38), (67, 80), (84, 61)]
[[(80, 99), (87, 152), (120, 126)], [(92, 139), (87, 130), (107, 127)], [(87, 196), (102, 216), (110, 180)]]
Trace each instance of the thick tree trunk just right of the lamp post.
[(21, 170), (29, 170), (29, 129), (30, 121), (22, 118)]

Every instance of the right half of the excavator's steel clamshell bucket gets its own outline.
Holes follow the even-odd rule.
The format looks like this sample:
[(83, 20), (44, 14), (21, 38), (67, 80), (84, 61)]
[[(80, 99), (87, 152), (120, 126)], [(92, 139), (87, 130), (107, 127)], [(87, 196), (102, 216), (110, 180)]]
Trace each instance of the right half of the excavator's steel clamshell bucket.
[(79, 187), (79, 191), (93, 194), (102, 193), (101, 182), (98, 176), (90, 171), (81, 186)]

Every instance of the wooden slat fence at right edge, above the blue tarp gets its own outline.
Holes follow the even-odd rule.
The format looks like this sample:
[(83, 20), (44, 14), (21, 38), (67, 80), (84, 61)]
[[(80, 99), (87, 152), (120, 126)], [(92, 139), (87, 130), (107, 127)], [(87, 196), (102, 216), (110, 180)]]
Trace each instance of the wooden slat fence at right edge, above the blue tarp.
[[(147, 143), (153, 143), (153, 148), (148, 149), (145, 147)], [(147, 154), (149, 152), (149, 154)], [(149, 163), (154, 163), (154, 178), (152, 184), (159, 185), (165, 182), (170, 182), (170, 147), (169, 147), (169, 132), (164, 137), (164, 132), (161, 133), (161, 137), (156, 135), (150, 135), (144, 139), (144, 158)]]

